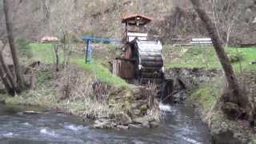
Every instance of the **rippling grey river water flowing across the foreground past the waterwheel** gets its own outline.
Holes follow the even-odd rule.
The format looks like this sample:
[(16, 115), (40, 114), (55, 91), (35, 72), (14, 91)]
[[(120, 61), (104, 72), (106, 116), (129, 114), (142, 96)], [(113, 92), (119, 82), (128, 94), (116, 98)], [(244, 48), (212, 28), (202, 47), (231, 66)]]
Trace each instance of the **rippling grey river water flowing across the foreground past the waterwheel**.
[(0, 143), (210, 143), (210, 132), (193, 108), (161, 106), (166, 114), (155, 129), (96, 130), (91, 122), (55, 112), (22, 114), (35, 108), (0, 105)]

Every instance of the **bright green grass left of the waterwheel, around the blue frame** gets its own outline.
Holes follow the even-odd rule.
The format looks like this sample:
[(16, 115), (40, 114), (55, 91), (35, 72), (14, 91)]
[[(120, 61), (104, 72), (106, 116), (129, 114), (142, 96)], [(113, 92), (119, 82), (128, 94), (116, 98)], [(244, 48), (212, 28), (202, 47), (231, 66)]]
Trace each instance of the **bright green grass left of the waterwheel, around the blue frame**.
[[(54, 63), (54, 50), (51, 44), (32, 43), (30, 44), (30, 47), (33, 51), (35, 60), (49, 64)], [(95, 78), (98, 78), (102, 82), (109, 82), (110, 84), (113, 84), (115, 86), (129, 86), (129, 84), (126, 83), (125, 80), (111, 74), (110, 70), (105, 66), (107, 61), (110, 60), (110, 58), (106, 58), (106, 55), (113, 54), (111, 53), (113, 52), (113, 50), (114, 46), (110, 45), (106, 47), (106, 50), (102, 49), (100, 50), (101, 52), (94, 52), (94, 57), (96, 58), (96, 60), (93, 61), (93, 64), (86, 64), (83, 54), (71, 55), (70, 62), (77, 64), (84, 70), (89, 70)], [(62, 52), (60, 54), (62, 54)]]

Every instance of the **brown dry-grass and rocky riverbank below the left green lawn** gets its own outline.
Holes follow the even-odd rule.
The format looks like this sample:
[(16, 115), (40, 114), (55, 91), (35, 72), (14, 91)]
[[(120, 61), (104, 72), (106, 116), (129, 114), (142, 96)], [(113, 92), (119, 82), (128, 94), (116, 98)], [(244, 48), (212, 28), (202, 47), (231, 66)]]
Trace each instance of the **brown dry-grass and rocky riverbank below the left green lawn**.
[(40, 66), (35, 90), (27, 90), (14, 98), (6, 96), (2, 102), (7, 105), (43, 106), (90, 118), (94, 120), (94, 128), (126, 130), (158, 126), (161, 114), (158, 103), (150, 108), (149, 88), (94, 81), (90, 72), (76, 65), (58, 73), (52, 70), (52, 65)]

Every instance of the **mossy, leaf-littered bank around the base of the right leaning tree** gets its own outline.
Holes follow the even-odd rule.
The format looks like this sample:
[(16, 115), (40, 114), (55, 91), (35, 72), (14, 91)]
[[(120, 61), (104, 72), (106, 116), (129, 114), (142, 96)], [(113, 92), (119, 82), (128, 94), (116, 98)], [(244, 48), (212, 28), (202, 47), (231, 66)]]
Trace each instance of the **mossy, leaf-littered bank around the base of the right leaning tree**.
[[(254, 78), (254, 79), (253, 79)], [(212, 79), (210, 82), (202, 84), (198, 90), (194, 90), (188, 102), (196, 103), (202, 120), (206, 122), (210, 128), (214, 143), (255, 143), (256, 133), (254, 128), (250, 127), (248, 120), (230, 120), (220, 110), (218, 98), (224, 91), (222, 76)], [(255, 73), (244, 73), (239, 75), (239, 79), (243, 79), (247, 90), (254, 90)], [(252, 92), (252, 91), (251, 91)], [(250, 94), (250, 93), (245, 93)]]

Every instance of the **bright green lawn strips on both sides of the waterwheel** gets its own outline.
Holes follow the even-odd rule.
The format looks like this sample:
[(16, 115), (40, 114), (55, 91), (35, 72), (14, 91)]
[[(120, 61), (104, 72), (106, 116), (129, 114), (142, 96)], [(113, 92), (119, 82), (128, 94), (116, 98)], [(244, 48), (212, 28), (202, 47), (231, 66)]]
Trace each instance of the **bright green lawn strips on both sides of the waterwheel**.
[[(32, 43), (30, 44), (34, 60), (45, 63), (54, 63), (54, 50), (50, 44)], [(71, 62), (77, 64), (85, 70), (90, 70), (95, 78), (104, 82), (110, 82), (117, 86), (128, 86), (122, 78), (115, 77), (107, 69), (108, 62), (114, 58), (117, 50), (115, 46), (106, 45), (104, 48), (94, 50), (93, 64), (86, 64), (82, 54), (74, 54)], [(82, 50), (81, 50), (82, 51)], [(235, 49), (227, 49), (228, 52), (236, 52)], [(250, 62), (256, 61), (256, 48), (241, 48), (238, 51), (242, 52), (242, 69), (243, 70), (256, 70), (256, 65), (250, 65)], [(60, 53), (63, 54), (62, 52)], [(164, 46), (165, 66), (169, 67), (209, 67), (220, 68), (220, 63), (212, 47), (193, 47), (181, 48)], [(61, 57), (62, 61), (62, 57)], [(239, 70), (239, 63), (233, 64), (235, 70)]]

